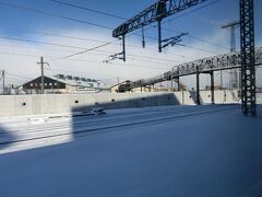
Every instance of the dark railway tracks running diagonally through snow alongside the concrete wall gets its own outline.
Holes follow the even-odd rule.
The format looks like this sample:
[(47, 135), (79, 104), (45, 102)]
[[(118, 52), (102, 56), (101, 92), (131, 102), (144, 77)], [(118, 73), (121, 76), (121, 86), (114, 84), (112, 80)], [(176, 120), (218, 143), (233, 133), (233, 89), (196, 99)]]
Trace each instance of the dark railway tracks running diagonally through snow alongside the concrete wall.
[[(38, 130), (29, 130), (22, 132), (22, 130), (15, 132), (12, 131), (14, 135), (17, 135), (17, 138), (15, 140), (4, 140), (3, 134), (0, 134), (2, 136), (0, 139), (0, 149), (1, 146), (7, 144), (26, 144), (26, 142), (34, 143), (44, 143), (45, 141), (59, 141), (60, 138), (67, 138), (72, 137), (83, 137), (83, 136), (90, 136), (90, 135), (97, 135), (97, 134), (105, 134), (105, 132), (111, 132), (119, 129), (127, 129), (129, 127), (138, 127), (138, 126), (145, 126), (146, 124), (160, 124), (165, 121), (175, 121), (179, 120), (181, 118), (190, 118), (198, 115), (203, 114), (213, 114), (216, 112), (222, 111), (233, 111), (236, 109), (238, 106), (221, 106), (221, 107), (214, 107), (214, 106), (205, 106), (204, 109), (195, 106), (195, 107), (188, 107), (186, 109), (169, 109), (169, 111), (159, 111), (154, 113), (148, 113), (144, 115), (131, 115), (127, 117), (119, 117), (120, 114), (115, 116), (114, 118), (110, 117), (104, 117), (104, 119), (92, 119), (85, 121), (81, 118), (76, 118), (76, 123), (73, 125), (60, 125), (57, 127), (44, 127), (38, 128)], [(176, 112), (176, 114), (174, 114)], [(61, 124), (61, 123), (60, 123)], [(1, 151), (0, 151), (1, 152)]]

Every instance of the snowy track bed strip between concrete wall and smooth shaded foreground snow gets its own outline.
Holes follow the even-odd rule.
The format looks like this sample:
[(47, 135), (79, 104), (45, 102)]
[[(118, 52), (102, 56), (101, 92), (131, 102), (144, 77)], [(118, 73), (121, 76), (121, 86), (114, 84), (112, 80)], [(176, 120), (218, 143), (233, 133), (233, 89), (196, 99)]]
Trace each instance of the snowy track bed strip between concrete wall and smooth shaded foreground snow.
[[(74, 113), (0, 118), (0, 154), (73, 141), (82, 135), (94, 135), (108, 129), (136, 127), (142, 124), (177, 119), (236, 106), (158, 106), (146, 108)], [(201, 112), (199, 112), (201, 109)], [(1, 149), (2, 147), (2, 149)]]

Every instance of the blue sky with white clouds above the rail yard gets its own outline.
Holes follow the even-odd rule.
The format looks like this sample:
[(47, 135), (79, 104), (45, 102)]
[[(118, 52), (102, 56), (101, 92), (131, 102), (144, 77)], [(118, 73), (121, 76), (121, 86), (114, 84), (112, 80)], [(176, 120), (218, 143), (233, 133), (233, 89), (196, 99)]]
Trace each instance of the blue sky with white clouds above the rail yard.
[[(136, 14), (138, 12), (142, 11), (144, 8), (151, 5), (152, 3), (154, 3), (154, 0), (60, 0), (60, 1), (64, 1), (68, 3), (72, 3), (72, 4), (76, 4), (76, 5), (81, 5), (81, 7), (85, 7), (88, 9), (93, 9), (93, 10), (98, 10), (98, 11), (103, 11), (103, 12), (107, 12), (107, 13), (111, 13), (115, 15), (119, 15), (121, 18), (131, 18), (134, 14)], [(71, 46), (81, 46), (81, 47), (94, 47), (97, 46), (99, 44), (97, 43), (80, 43), (79, 40), (73, 40), (73, 39), (59, 39), (58, 37), (50, 37), (50, 36), (45, 36), (44, 33), (53, 33), (53, 34), (59, 34), (59, 35), (68, 35), (68, 36), (81, 36), (81, 37), (85, 37), (85, 38), (90, 38), (90, 39), (100, 39), (100, 40), (112, 40), (114, 38), (111, 37), (111, 30), (107, 30), (107, 28), (100, 28), (100, 27), (95, 27), (93, 25), (87, 25), (87, 24), (83, 24), (83, 23), (78, 23), (78, 22), (72, 22), (72, 21), (68, 21), (68, 20), (63, 20), (63, 19), (58, 19), (58, 18), (53, 18), (53, 16), (48, 16), (45, 14), (38, 14), (35, 12), (31, 12), (31, 11), (25, 11), (25, 10), (21, 10), (21, 9), (15, 9), (15, 8), (11, 8), (11, 7), (7, 7), (7, 5), (2, 5), (1, 2), (7, 2), (7, 3), (11, 3), (11, 4), (16, 4), (20, 7), (25, 7), (25, 8), (31, 8), (31, 9), (35, 9), (35, 10), (39, 10), (39, 11), (44, 11), (44, 12), (48, 12), (48, 13), (55, 13), (55, 14), (60, 14), (63, 16), (68, 16), (68, 18), (73, 18), (73, 19), (78, 19), (78, 20), (82, 20), (82, 21), (86, 21), (86, 22), (92, 22), (95, 24), (99, 24), (99, 25), (104, 25), (104, 26), (108, 26), (108, 27), (117, 27), (118, 25), (120, 25), (123, 20), (120, 19), (115, 19), (115, 18), (110, 18), (110, 16), (105, 16), (103, 14), (97, 14), (97, 13), (93, 13), (93, 12), (87, 12), (84, 10), (80, 10), (80, 9), (75, 9), (75, 8), (71, 8), (71, 7), (67, 7), (63, 4), (59, 4), (59, 3), (55, 3), (51, 2), (49, 0), (0, 0), (0, 36), (9, 36), (9, 37), (16, 37), (16, 38), (23, 38), (23, 39), (33, 39), (33, 40), (40, 40), (40, 42), (49, 42), (49, 43), (59, 43), (62, 45), (71, 45)], [(198, 9), (200, 7), (213, 3), (206, 8), (200, 9), (200, 10), (194, 10)], [(254, 0), (255, 3), (255, 39), (257, 39), (257, 44), (261, 44), (261, 34), (262, 34), (262, 24), (260, 23), (260, 19), (262, 19), (262, 14), (259, 11), (259, 9), (261, 10), (262, 8), (262, 1), (261, 0)], [(182, 15), (187, 12), (190, 12), (189, 14)], [(166, 22), (167, 20), (174, 19), (180, 16), (178, 19), (175, 19), (170, 22)], [(170, 31), (163, 31), (163, 37), (167, 38), (174, 35), (177, 35), (179, 32), (187, 32), (191, 35), (188, 37), (183, 38), (183, 44), (187, 44), (188, 46), (194, 46), (200, 48), (200, 50), (195, 50), (193, 51), (191, 50), (187, 50), (187, 48), (179, 48), (177, 47), (176, 49), (174, 49), (174, 51), (179, 53), (179, 55), (183, 56), (186, 58), (179, 59), (178, 57), (171, 57), (169, 56), (168, 58), (174, 58), (175, 60), (178, 61), (189, 61), (191, 59), (187, 59), (188, 56), (193, 56), (194, 58), (196, 57), (205, 57), (205, 56), (211, 56), (214, 55), (213, 54), (206, 54), (206, 51), (201, 51), (201, 49), (205, 49), (205, 50), (212, 50), (215, 51), (216, 54), (219, 53), (227, 53), (229, 50), (229, 32), (222, 30), (221, 25), (226, 24), (230, 21), (235, 21), (239, 19), (239, 0), (207, 0), (205, 3), (202, 3), (199, 7), (194, 7), (192, 9), (189, 9), (184, 12), (181, 12), (180, 14), (174, 15), (168, 18), (167, 20), (164, 20), (164, 24), (163, 26), (165, 28), (168, 30), (172, 30), (174, 32)], [(41, 34), (39, 34), (41, 33)], [(138, 31), (138, 33), (140, 33), (140, 31)], [(157, 37), (156, 34), (156, 28), (151, 28), (148, 31), (146, 31), (146, 36), (151, 36), (151, 37)], [(194, 38), (193, 38), (194, 37)], [(239, 33), (237, 32), (237, 37), (239, 37)], [(203, 39), (203, 42), (201, 42), (201, 39)], [(237, 38), (238, 39), (238, 38)], [(7, 44), (8, 42), (10, 42), (10, 44), (12, 44), (13, 48), (11, 48), (12, 53), (16, 53), (21, 50), (19, 49), (22, 47), (27, 47), (27, 49), (23, 53), (28, 53), (28, 51), (33, 51), (36, 50), (39, 55), (44, 54), (44, 55), (50, 55), (50, 53), (48, 54), (46, 50), (47, 48), (41, 46), (40, 44), (29, 44), (27, 43), (26, 46), (25, 44), (23, 45), (23, 43), (21, 42), (11, 42), (11, 40), (5, 40), (5, 39), (0, 39), (1, 43)], [(128, 38), (128, 44), (132, 45), (140, 45), (141, 44), (141, 37), (139, 36), (131, 36)], [(211, 45), (207, 42), (214, 44)], [(237, 40), (237, 43), (239, 43), (239, 39)], [(8, 43), (9, 44), (9, 43)], [(152, 47), (156, 47), (156, 40), (154, 39), (146, 39), (146, 44), (147, 45), (152, 45)], [(221, 45), (222, 47), (217, 47), (215, 45)], [(239, 46), (239, 45), (238, 45)], [(28, 49), (29, 47), (29, 49)], [(50, 48), (50, 46), (49, 46)], [(48, 49), (49, 49), (48, 48)], [(55, 48), (55, 47), (52, 47)], [(5, 48), (1, 48), (2, 50), (5, 51)], [(59, 50), (60, 48), (56, 47), (57, 50)], [(64, 48), (63, 48), (64, 49)], [(66, 48), (67, 49), (67, 48)], [(120, 47), (116, 47), (116, 48), (109, 48), (110, 50), (115, 51), (115, 53), (119, 53)], [(156, 48), (157, 49), (157, 48)], [(80, 50), (80, 49), (79, 49)], [(128, 47), (127, 49), (128, 51), (131, 51), (131, 49)], [(172, 50), (172, 49), (168, 49)], [(76, 49), (74, 51), (78, 51)], [(135, 50), (134, 50), (135, 53)], [(139, 53), (139, 51), (138, 51)], [(140, 53), (141, 54), (141, 53)], [(62, 54), (60, 55), (60, 53), (51, 53), (52, 56), (62, 56)], [(70, 55), (70, 53), (68, 53), (67, 55)], [(155, 56), (157, 58), (166, 58), (164, 56), (167, 55), (158, 55), (158, 54), (145, 54), (147, 56)], [(102, 57), (102, 59), (99, 59), (98, 61), (102, 61), (103, 59), (106, 58)], [(3, 57), (3, 55), (1, 55), (1, 57)], [(17, 62), (21, 62), (21, 58), (16, 58)], [(92, 60), (96, 60), (97, 57), (90, 57), (90, 56), (82, 56), (82, 57), (78, 57), (81, 60), (83, 60), (83, 58), (85, 59), (92, 59)], [(25, 59), (25, 57), (24, 57)], [(3, 60), (1, 60), (3, 61)], [(34, 76), (36, 74), (35, 70), (35, 59), (27, 59), (25, 62), (27, 65), (32, 65), (31, 69), (32, 72), (28, 72), (28, 69), (22, 69), (20, 68), (20, 72), (21, 74), (27, 74), (27, 76)], [(116, 77), (122, 77), (122, 79), (127, 79), (129, 77), (129, 74), (123, 74), (121, 73), (121, 68), (116, 67), (115, 62), (112, 62), (112, 67), (116, 67), (112, 70), (111, 73), (108, 73), (108, 68), (105, 67), (99, 67), (99, 70), (97, 70), (97, 68), (88, 68), (86, 69), (85, 67), (81, 67), (80, 69), (75, 69), (72, 68), (72, 61), (62, 61), (62, 62), (56, 62), (53, 63), (58, 69), (64, 69), (68, 68), (70, 69), (72, 72), (78, 70), (78, 71), (82, 71), (83, 72), (91, 72), (91, 73), (102, 73), (102, 76), (97, 74), (97, 78), (104, 78), (103, 73), (107, 73), (107, 78), (116, 78)], [(142, 77), (138, 76), (138, 70), (132, 70), (132, 66), (135, 65), (136, 67), (140, 67), (141, 65), (146, 65), (145, 62), (127, 62), (130, 70), (127, 70), (127, 73), (133, 73), (130, 74), (130, 78), (134, 79), (134, 78), (139, 78)], [(4, 61), (2, 62), (2, 65), (9, 65), (9, 69), (11, 69), (12, 71), (15, 70), (15, 60), (13, 57), (4, 57)], [(34, 66), (33, 66), (34, 65)], [(62, 65), (62, 66), (61, 66)], [(83, 65), (83, 63), (82, 63)], [(146, 65), (147, 67), (152, 66), (154, 67), (154, 65)], [(175, 65), (171, 65), (175, 66)], [(29, 66), (28, 66), (29, 67)], [(159, 67), (159, 65), (158, 65)], [(146, 77), (152, 77), (152, 74), (158, 73), (164, 71), (167, 67), (170, 67), (170, 65), (166, 65), (166, 67), (163, 67), (162, 70), (155, 70), (154, 72), (152, 70), (148, 70), (148, 72), (146, 70), (144, 70), (144, 73), (147, 73), (148, 76), (144, 74)], [(7, 69), (7, 66), (4, 67), (4, 69)], [(126, 69), (126, 68), (124, 68)], [(120, 71), (119, 71), (120, 70)], [(132, 71), (131, 71), (132, 70)], [(116, 74), (115, 74), (115, 73)], [(122, 74), (122, 76), (121, 76)]]

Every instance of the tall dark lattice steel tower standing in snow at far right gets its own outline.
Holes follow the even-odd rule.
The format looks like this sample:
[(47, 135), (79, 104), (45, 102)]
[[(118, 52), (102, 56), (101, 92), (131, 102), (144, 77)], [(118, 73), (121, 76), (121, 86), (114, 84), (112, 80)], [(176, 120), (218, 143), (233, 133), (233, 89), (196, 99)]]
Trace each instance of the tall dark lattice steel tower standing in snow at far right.
[(255, 116), (255, 58), (253, 0), (240, 0), (242, 112)]

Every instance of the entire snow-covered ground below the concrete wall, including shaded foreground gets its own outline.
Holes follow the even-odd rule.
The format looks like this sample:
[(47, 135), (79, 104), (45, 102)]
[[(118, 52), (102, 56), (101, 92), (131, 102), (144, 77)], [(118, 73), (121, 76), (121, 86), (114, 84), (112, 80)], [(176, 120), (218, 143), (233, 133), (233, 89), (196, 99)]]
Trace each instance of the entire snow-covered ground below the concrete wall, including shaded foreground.
[(0, 119), (0, 196), (259, 197), (262, 107)]

